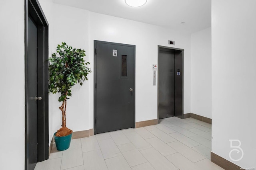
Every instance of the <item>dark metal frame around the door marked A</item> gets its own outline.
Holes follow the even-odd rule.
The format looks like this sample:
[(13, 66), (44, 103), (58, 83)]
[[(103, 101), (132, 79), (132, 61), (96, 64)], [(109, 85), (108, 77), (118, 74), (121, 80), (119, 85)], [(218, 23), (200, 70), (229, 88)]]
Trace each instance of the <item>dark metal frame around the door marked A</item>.
[(96, 135), (96, 55), (97, 55), (97, 50), (96, 50), (96, 44), (97, 43), (102, 43), (102, 44), (110, 44), (110, 45), (122, 45), (122, 46), (126, 46), (126, 47), (134, 47), (134, 62), (133, 62), (133, 76), (134, 76), (134, 80), (133, 80), (133, 86), (134, 86), (134, 98), (133, 98), (133, 106), (134, 106), (134, 113), (133, 113), (133, 128), (135, 128), (135, 93), (136, 93), (136, 87), (135, 87), (135, 52), (136, 52), (136, 46), (135, 45), (129, 45), (129, 44), (122, 44), (122, 43), (112, 43), (112, 42), (107, 42), (107, 41), (98, 41), (98, 40), (94, 40), (94, 135)]

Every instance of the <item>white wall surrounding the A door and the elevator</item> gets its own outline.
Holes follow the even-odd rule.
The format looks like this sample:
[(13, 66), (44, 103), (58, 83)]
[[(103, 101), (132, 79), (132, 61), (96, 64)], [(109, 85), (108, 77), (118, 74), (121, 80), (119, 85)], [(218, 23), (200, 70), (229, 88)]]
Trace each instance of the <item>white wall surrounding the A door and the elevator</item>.
[[(175, 41), (174, 47), (184, 49), (184, 113), (190, 113), (190, 35), (90, 12), (89, 61), (92, 70), (94, 40), (136, 45), (136, 122), (157, 119), (157, 86), (152, 84), (152, 64), (158, 61), (158, 45), (170, 46), (168, 39)], [(89, 77), (89, 85), (90, 128), (93, 128), (93, 74)]]

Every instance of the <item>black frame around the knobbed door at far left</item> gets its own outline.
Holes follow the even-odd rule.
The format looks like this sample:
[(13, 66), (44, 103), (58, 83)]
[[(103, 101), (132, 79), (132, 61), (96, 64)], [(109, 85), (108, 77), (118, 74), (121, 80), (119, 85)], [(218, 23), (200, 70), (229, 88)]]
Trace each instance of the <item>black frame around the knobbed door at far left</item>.
[(38, 96), (42, 102), (38, 104), (38, 162), (49, 158), (49, 121), (48, 121), (48, 21), (38, 0), (24, 0), (25, 2), (25, 170), (28, 168), (28, 17), (32, 17), (38, 29)]

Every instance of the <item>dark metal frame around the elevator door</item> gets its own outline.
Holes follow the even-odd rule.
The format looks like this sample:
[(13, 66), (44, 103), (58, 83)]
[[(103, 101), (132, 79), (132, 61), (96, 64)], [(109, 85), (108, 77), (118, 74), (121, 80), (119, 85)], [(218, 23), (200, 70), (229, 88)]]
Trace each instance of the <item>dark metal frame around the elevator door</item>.
[[(179, 116), (177, 116), (177, 115), (174, 115), (174, 116), (177, 116), (177, 117), (179, 117), (179, 118), (181, 118), (181, 119), (184, 119), (184, 112), (183, 112), (183, 110), (184, 110), (184, 76), (183, 76), (183, 74), (184, 74), (184, 49), (178, 49), (178, 48), (173, 48), (173, 47), (166, 47), (166, 46), (161, 46), (161, 45), (158, 45), (158, 63), (159, 63), (159, 57), (160, 57), (160, 49), (166, 49), (166, 50), (168, 50), (168, 49), (172, 49), (172, 50), (175, 50), (175, 54), (176, 54), (176, 52), (180, 52), (180, 55), (182, 55), (182, 74), (181, 74), (181, 76), (182, 76), (182, 115), (179, 115)], [(159, 65), (158, 65), (158, 68), (159, 68)], [(175, 70), (174, 71), (174, 74), (176, 74), (176, 71), (177, 70)], [(159, 71), (157, 72), (157, 85), (158, 85), (158, 88), (157, 88), (157, 107), (159, 107)], [(159, 110), (158, 110), (158, 108), (157, 108), (157, 119), (158, 119), (158, 122), (159, 122)]]

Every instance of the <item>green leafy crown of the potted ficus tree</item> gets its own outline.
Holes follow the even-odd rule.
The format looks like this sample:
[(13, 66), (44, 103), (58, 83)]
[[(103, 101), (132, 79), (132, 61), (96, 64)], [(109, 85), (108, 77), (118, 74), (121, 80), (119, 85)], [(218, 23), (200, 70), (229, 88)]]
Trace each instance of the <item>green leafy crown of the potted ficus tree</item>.
[(56, 52), (47, 61), (49, 63), (49, 93), (60, 93), (59, 102), (66, 96), (71, 96), (72, 86), (88, 80), (87, 74), (91, 72), (87, 67), (89, 62), (84, 60), (85, 51), (67, 45), (65, 42), (58, 44)]

